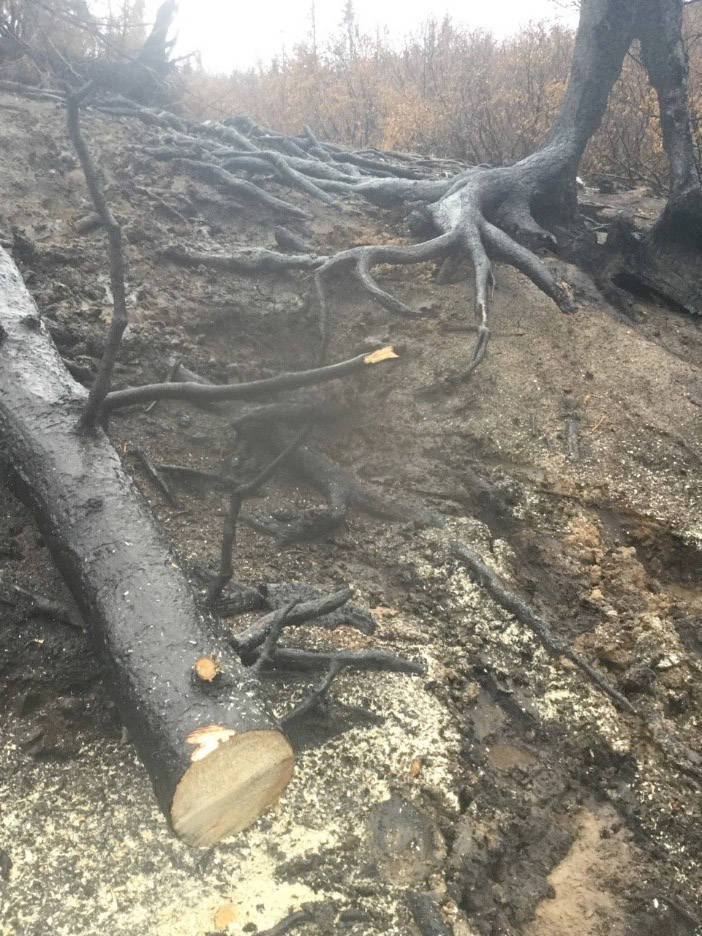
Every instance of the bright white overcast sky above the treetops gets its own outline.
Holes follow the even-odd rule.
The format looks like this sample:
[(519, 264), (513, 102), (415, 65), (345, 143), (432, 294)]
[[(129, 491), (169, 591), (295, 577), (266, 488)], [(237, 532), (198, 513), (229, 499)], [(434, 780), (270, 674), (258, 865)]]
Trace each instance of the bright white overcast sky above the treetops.
[[(158, 0), (147, 3), (150, 11), (158, 6)], [(338, 28), (343, 5), (343, 0), (316, 0), (318, 42)], [(179, 0), (178, 54), (199, 49), (209, 71), (267, 63), (283, 47), (291, 49), (309, 35), (311, 6), (311, 0)], [(354, 0), (354, 7), (362, 31), (375, 34), (376, 28), (387, 27), (392, 38), (445, 13), (500, 36), (529, 20), (559, 18), (552, 0)]]

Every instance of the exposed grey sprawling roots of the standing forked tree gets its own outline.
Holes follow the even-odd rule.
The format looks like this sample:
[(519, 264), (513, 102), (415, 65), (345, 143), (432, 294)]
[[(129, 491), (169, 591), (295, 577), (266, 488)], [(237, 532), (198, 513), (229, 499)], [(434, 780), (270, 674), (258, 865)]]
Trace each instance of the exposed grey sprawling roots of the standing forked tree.
[[(305, 220), (296, 206), (268, 195), (258, 186), (239, 177), (277, 178), (315, 199), (330, 203), (331, 196), (360, 197), (381, 207), (403, 207), (408, 215), (421, 214), (429, 220), (431, 235), (412, 245), (367, 245), (341, 250), (331, 257), (302, 252), (304, 241), (293, 238), (295, 255), (260, 248), (223, 255), (187, 255), (170, 248), (164, 258), (179, 263), (198, 263), (240, 273), (279, 272), (287, 269), (314, 270), (319, 302), (321, 332), (320, 360), (324, 360), (329, 340), (330, 281), (340, 271), (350, 271), (361, 287), (384, 308), (400, 315), (414, 311), (400, 298), (383, 289), (373, 275), (379, 264), (403, 265), (467, 258), (473, 268), (475, 314), (478, 334), (464, 371), (465, 378), (483, 360), (490, 331), (488, 309), (494, 288), (493, 260), (516, 267), (564, 312), (573, 311), (568, 287), (554, 275), (535, 250), (556, 246), (555, 237), (532, 214), (532, 204), (544, 190), (557, 188), (567, 175), (572, 154), (549, 144), (514, 166), (462, 169), (450, 178), (430, 178), (421, 161), (412, 166), (402, 160), (378, 154), (350, 153), (329, 143), (320, 143), (306, 132), (286, 137), (258, 127), (249, 118), (231, 118), (222, 124), (179, 124), (163, 113), (134, 115), (149, 122), (163, 123), (169, 131), (169, 144), (151, 147), (149, 152), (169, 159), (176, 171), (215, 185), (237, 199), (255, 199), (259, 204), (288, 216)], [(167, 119), (168, 118), (168, 119)], [(227, 145), (229, 144), (229, 145)], [(236, 147), (232, 149), (231, 147)], [(191, 158), (196, 155), (198, 158)], [(419, 209), (419, 212), (417, 211)], [(284, 249), (292, 244), (283, 236)]]

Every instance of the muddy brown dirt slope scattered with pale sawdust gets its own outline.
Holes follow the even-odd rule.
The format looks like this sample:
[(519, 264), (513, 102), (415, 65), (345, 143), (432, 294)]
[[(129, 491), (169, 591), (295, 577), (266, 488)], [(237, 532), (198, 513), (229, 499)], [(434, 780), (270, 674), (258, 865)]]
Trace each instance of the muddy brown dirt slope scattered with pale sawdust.
[[(217, 381), (312, 363), (304, 275), (158, 259), (170, 243), (272, 246), (274, 219), (146, 158), (139, 145), (159, 142), (156, 130), (94, 115), (84, 125), (127, 243), (120, 385), (164, 379), (174, 355)], [(63, 115), (3, 95), (0, 144), (0, 238), (59, 349), (89, 375), (109, 281), (101, 237), (74, 228), (89, 204)], [(270, 190), (312, 213), (296, 229), (323, 253), (406, 235), (361, 201), (333, 209)], [(616, 213), (617, 196), (608, 204)], [(658, 207), (642, 206), (650, 217)], [(381, 273), (418, 311), (409, 321), (339, 282), (330, 356), (388, 340), (400, 360), (325, 391), (347, 414), (320, 423), (313, 442), (445, 526), (357, 513), (333, 536), (287, 548), (244, 529), (237, 577), (349, 583), (378, 631), (324, 642), (421, 657), (428, 674), (341, 679), (327, 714), (294, 738), (298, 770), (278, 811), (250, 831), (207, 852), (171, 838), (85, 639), (0, 604), (3, 936), (197, 936), (228, 905), (220, 924), (254, 932), (310, 900), (333, 909), (300, 928), (309, 936), (412, 934), (408, 889), (433, 890), (462, 936), (696, 931), (702, 320), (643, 301), (622, 317), (560, 267), (580, 303), (573, 317), (498, 267), (489, 355), (450, 393), (432, 388), (474, 336), (469, 286), (437, 285), (429, 264)], [(257, 453), (226, 420), (175, 403), (120, 413), (110, 431), (202, 587), (217, 561), (220, 495), (179, 489), (170, 506), (130, 450), (215, 470), (223, 457), (245, 470)], [(280, 517), (318, 503), (282, 473), (253, 508)], [(452, 539), (493, 564), (642, 717), (550, 658), (471, 582)], [(31, 518), (0, 487), (0, 599), (14, 585), (63, 597)], [(271, 686), (278, 713), (305, 686)]]

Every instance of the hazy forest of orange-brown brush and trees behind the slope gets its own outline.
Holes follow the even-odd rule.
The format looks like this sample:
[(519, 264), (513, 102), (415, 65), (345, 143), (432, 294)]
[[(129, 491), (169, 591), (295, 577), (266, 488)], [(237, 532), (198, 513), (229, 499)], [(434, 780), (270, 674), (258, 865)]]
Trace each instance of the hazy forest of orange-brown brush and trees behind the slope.
[[(69, 56), (128, 55), (145, 35), (143, 0), (2, 0), (0, 11), (22, 41), (41, 46), (48, 33)], [(684, 34), (700, 154), (702, 5), (687, 5)], [(306, 41), (255, 69), (213, 75), (199, 67), (196, 54), (183, 59), (182, 108), (198, 120), (247, 114), (285, 133), (308, 125), (324, 139), (356, 148), (509, 164), (533, 152), (551, 126), (572, 46), (573, 33), (563, 26), (535, 23), (498, 39), (448, 18), (429, 19), (402, 40), (370, 36), (359, 29), (351, 0), (340, 9), (336, 35), (320, 44), (312, 4)], [(0, 56), (0, 77), (35, 83), (36, 71), (31, 59)], [(582, 165), (586, 176), (602, 172), (624, 185), (665, 191), (655, 93), (635, 47)]]

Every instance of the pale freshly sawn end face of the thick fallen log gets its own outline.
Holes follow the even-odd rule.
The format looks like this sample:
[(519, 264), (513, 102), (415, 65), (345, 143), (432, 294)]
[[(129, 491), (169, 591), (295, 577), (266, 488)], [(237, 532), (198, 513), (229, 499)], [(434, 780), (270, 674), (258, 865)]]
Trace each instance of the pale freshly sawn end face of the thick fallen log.
[(279, 731), (236, 734), (211, 725), (193, 732), (198, 745), (171, 804), (176, 835), (206, 848), (251, 825), (292, 777), (292, 748)]

